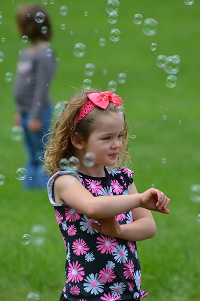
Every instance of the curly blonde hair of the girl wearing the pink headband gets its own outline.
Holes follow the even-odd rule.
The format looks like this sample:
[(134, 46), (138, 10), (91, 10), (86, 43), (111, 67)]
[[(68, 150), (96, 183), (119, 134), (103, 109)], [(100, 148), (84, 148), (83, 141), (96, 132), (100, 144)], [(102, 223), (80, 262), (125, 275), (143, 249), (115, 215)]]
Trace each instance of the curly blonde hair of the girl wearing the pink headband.
[(53, 176), (60, 170), (59, 161), (62, 158), (69, 159), (71, 156), (74, 156), (74, 147), (70, 140), (72, 133), (74, 133), (74, 135), (78, 133), (79, 138), (83, 141), (87, 141), (91, 132), (101, 122), (102, 115), (105, 116), (112, 113), (121, 114), (124, 119), (124, 132), (122, 136), (123, 147), (115, 167), (119, 167), (122, 163), (124, 163), (124, 165), (129, 165), (131, 163), (131, 157), (128, 154), (129, 125), (125, 120), (125, 113), (121, 107), (118, 107), (117, 105), (113, 106), (113, 103), (111, 102), (106, 110), (96, 106), (80, 122), (76, 123), (81, 106), (89, 99), (87, 95), (89, 93), (98, 92), (101, 91), (98, 89), (81, 91), (74, 95), (69, 101), (65, 102), (62, 114), (55, 119), (52, 132), (48, 134), (48, 143), (46, 145), (43, 164), (43, 169), (46, 174)]

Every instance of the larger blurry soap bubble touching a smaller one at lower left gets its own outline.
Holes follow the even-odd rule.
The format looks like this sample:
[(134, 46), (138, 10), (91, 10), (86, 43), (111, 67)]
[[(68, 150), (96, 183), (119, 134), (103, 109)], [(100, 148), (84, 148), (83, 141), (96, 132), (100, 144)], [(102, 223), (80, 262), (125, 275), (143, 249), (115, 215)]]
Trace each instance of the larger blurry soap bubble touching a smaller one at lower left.
[(36, 224), (31, 230), (31, 243), (34, 245), (42, 245), (46, 240), (46, 227), (44, 225)]

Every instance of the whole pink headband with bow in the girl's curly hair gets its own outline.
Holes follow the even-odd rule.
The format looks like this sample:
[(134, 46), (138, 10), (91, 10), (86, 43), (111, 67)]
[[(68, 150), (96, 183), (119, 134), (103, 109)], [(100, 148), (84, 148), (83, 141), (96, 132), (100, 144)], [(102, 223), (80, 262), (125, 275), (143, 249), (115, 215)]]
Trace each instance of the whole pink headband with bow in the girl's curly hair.
[(101, 93), (90, 93), (87, 95), (89, 100), (86, 100), (85, 104), (81, 107), (79, 116), (77, 117), (76, 123), (81, 121), (90, 111), (93, 110), (96, 106), (104, 108), (104, 110), (109, 105), (109, 101), (113, 102), (113, 105), (123, 105), (121, 102), (121, 97), (117, 94), (112, 93), (111, 91), (105, 91)]

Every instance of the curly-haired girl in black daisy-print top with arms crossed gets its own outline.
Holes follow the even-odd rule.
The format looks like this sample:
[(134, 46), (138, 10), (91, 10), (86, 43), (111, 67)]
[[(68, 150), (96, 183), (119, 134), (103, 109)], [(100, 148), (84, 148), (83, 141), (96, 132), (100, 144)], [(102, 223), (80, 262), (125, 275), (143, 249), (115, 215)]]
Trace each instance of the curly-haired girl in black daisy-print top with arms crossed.
[[(110, 91), (73, 96), (45, 152), (44, 169), (52, 176), (48, 196), (67, 252), (60, 301), (139, 300), (147, 295), (141, 290), (136, 241), (156, 234), (149, 210), (169, 213), (170, 200), (154, 188), (138, 194), (133, 172), (120, 167), (130, 161), (122, 102)], [(88, 152), (96, 158), (92, 167), (84, 165)], [(60, 170), (59, 161), (72, 156), (80, 161), (78, 170)]]

